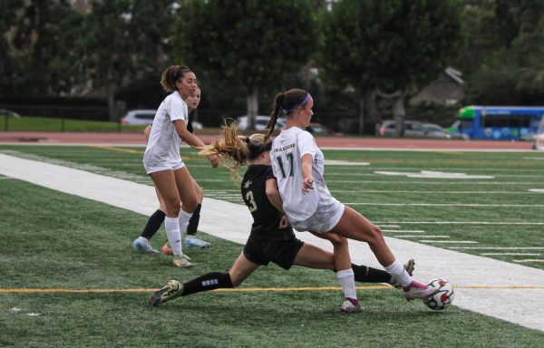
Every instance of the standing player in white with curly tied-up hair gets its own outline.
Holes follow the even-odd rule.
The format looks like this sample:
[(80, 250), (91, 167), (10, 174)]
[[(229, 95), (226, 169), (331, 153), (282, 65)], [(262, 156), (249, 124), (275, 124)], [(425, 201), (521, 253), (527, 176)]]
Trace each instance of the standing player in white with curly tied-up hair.
[[(189, 256), (182, 252), (181, 234), (185, 233), (189, 218), (199, 202), (194, 179), (180, 158), (180, 145), (183, 140), (193, 147), (204, 146), (199, 138), (187, 130), (189, 111), (184, 102), (196, 92), (197, 77), (187, 66), (172, 65), (162, 73), (160, 84), (170, 95), (160, 104), (153, 119), (143, 166), (164, 199), (164, 227), (174, 254), (172, 263), (187, 267), (192, 264)], [(212, 167), (217, 167), (217, 156), (209, 156), (209, 160)]]

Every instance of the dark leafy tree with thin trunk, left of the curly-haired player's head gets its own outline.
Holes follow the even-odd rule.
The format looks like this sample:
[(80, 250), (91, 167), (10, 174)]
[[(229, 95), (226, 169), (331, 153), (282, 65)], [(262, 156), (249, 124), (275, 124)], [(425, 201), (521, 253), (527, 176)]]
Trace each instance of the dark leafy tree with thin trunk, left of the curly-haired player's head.
[(168, 60), (174, 8), (170, 0), (94, 0), (85, 17), (81, 56), (95, 89), (116, 120), (115, 93), (144, 75), (158, 79)]

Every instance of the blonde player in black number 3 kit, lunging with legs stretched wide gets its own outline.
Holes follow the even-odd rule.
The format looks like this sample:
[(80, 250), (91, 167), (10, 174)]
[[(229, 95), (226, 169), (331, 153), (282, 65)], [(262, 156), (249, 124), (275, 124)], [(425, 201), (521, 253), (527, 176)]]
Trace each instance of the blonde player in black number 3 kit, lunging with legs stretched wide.
[[(295, 237), (293, 228), (288, 225), (287, 218), (280, 212), (281, 196), (277, 190), (277, 181), (270, 166), (269, 150), (271, 143), (263, 143), (263, 134), (251, 137), (236, 136), (236, 126), (224, 127), (225, 136), (216, 140), (205, 150), (203, 155), (215, 153), (220, 159), (234, 160), (228, 166), (234, 176), (241, 165), (248, 162), (248, 170), (241, 182), (241, 193), (244, 202), (253, 217), (251, 233), (242, 253), (238, 256), (228, 273), (211, 272), (201, 275), (185, 284), (176, 280), (162, 287), (151, 297), (150, 304), (159, 305), (178, 296), (192, 295), (202, 291), (218, 288), (231, 288), (242, 284), (259, 266), (267, 266), (272, 262), (286, 270), (291, 266), (329, 269), (335, 271), (335, 256), (339, 252), (347, 253), (347, 240), (344, 237), (326, 236), (335, 246), (335, 254), (330, 253)], [(357, 282), (396, 283), (392, 276), (384, 270), (368, 266), (351, 265)], [(413, 260), (406, 265), (412, 274)], [(350, 304), (353, 304), (350, 302)], [(343, 305), (343, 313), (354, 313), (362, 310), (357, 302)]]

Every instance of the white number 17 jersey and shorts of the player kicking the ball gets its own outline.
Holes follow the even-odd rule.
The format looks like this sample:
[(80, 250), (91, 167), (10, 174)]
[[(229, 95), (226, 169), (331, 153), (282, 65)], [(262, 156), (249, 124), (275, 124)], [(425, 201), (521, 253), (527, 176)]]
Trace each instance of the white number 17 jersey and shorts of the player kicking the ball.
[[(305, 154), (313, 158), (314, 189), (303, 194), (302, 156)], [(298, 127), (291, 127), (279, 133), (272, 143), (270, 156), (283, 208), (291, 225), (298, 230), (307, 230), (325, 224), (325, 230), (316, 232), (334, 227), (326, 226), (326, 221), (337, 216), (338, 209), (344, 206), (331, 196), (326, 187), (323, 177), (325, 157), (314, 137)]]

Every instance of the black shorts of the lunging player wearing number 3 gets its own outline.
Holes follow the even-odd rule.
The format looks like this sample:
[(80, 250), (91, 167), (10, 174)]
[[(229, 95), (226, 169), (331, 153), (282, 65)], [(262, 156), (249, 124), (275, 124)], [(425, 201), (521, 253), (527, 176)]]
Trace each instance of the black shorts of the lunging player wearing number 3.
[(257, 265), (267, 266), (272, 262), (284, 269), (289, 269), (295, 262), (298, 250), (304, 246), (300, 239), (263, 240), (249, 238), (244, 247), (244, 256)]

